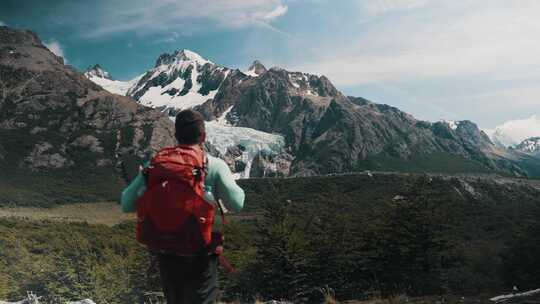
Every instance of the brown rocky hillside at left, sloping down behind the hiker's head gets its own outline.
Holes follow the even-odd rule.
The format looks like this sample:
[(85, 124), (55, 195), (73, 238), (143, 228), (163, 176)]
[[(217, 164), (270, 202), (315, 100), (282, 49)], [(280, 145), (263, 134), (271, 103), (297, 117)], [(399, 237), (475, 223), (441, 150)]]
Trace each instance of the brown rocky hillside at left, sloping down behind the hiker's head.
[(174, 144), (166, 115), (0, 26), (0, 205), (111, 200), (139, 159)]

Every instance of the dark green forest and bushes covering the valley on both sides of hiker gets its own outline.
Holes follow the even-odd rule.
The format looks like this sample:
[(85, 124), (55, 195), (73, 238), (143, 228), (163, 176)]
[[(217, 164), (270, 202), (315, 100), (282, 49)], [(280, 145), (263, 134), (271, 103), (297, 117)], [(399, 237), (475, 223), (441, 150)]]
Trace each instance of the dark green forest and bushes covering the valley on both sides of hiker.
[[(540, 286), (540, 197), (520, 183), (424, 175), (242, 181), (222, 299), (317, 303)], [(142, 303), (159, 291), (134, 223), (0, 220), (0, 298)], [(325, 300), (326, 299), (326, 300)]]

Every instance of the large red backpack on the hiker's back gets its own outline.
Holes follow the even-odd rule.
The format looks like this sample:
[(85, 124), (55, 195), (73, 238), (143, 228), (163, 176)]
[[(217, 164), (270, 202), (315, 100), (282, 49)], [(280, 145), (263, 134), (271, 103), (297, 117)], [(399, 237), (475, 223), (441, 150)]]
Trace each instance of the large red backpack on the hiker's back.
[(137, 200), (137, 240), (151, 250), (176, 255), (214, 251), (216, 207), (203, 199), (204, 151), (198, 146), (165, 148), (143, 173), (147, 190)]

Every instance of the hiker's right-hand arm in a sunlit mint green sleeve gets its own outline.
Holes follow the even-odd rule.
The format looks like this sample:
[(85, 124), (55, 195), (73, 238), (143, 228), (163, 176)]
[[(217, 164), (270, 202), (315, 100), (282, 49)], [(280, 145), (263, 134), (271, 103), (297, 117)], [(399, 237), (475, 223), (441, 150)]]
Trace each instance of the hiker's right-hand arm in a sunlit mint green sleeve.
[(217, 197), (222, 199), (227, 209), (239, 212), (244, 207), (245, 194), (234, 180), (231, 170), (224, 161), (218, 159), (216, 165), (216, 187)]

